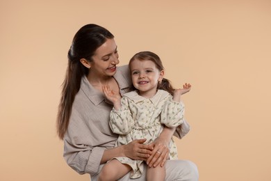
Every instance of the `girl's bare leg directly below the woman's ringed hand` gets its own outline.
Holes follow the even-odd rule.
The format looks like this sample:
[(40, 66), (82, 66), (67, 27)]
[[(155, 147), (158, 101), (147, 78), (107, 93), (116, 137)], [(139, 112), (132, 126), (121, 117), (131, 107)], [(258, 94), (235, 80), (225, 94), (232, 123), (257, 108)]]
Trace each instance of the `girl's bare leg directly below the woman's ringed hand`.
[(147, 168), (147, 181), (164, 181), (165, 180), (165, 166), (156, 166)]

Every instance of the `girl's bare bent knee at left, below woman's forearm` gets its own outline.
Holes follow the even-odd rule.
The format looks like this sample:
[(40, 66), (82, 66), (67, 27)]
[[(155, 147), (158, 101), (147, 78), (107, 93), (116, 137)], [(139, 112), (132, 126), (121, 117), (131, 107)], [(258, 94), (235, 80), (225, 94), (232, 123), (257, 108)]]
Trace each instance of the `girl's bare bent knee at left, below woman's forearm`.
[(115, 181), (122, 178), (126, 173), (131, 171), (131, 167), (127, 164), (122, 164), (117, 159), (113, 159), (106, 163), (101, 169), (98, 181)]

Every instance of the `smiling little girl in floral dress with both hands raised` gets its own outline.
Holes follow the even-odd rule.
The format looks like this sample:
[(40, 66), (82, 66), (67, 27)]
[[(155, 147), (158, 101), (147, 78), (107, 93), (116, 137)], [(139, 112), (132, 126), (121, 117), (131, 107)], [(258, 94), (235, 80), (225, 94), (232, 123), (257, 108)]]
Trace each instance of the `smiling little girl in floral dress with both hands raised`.
[[(152, 52), (139, 52), (130, 62), (133, 89), (121, 97), (108, 86), (103, 87), (106, 98), (113, 102), (110, 113), (110, 128), (120, 134), (117, 145), (135, 139), (147, 139), (145, 144), (156, 140), (163, 127), (177, 127), (183, 123), (184, 105), (181, 95), (190, 91), (190, 84), (183, 88), (172, 88), (163, 78), (164, 68), (159, 56)], [(178, 159), (176, 145), (170, 145), (170, 159)], [(159, 150), (155, 153), (161, 155)], [(131, 178), (139, 178), (144, 161), (128, 157), (116, 157), (101, 170), (99, 180), (118, 180), (131, 171)], [(165, 166), (148, 167), (147, 180), (165, 180)]]

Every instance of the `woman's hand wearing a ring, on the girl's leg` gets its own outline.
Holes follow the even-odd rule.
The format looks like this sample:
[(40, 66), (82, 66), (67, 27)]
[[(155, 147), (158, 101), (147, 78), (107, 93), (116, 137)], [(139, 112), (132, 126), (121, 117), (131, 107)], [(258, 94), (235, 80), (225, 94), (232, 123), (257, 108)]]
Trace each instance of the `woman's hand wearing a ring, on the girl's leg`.
[(151, 166), (161, 166), (165, 165), (165, 161), (167, 161), (169, 157), (170, 149), (168, 148), (169, 142), (166, 139), (158, 137), (156, 141), (151, 143), (151, 146), (154, 146), (154, 150), (152, 150), (151, 156), (147, 159), (147, 165)]

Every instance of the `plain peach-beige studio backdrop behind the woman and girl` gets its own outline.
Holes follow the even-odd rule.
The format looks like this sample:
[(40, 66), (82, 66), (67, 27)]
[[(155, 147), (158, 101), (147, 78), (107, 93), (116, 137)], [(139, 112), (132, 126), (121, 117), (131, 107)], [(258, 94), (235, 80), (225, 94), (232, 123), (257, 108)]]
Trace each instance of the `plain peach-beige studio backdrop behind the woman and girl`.
[(65, 163), (55, 120), (76, 31), (115, 35), (121, 64), (161, 56), (192, 130), (180, 159), (201, 181), (271, 180), (271, 1), (0, 1), (0, 180), (89, 180)]

